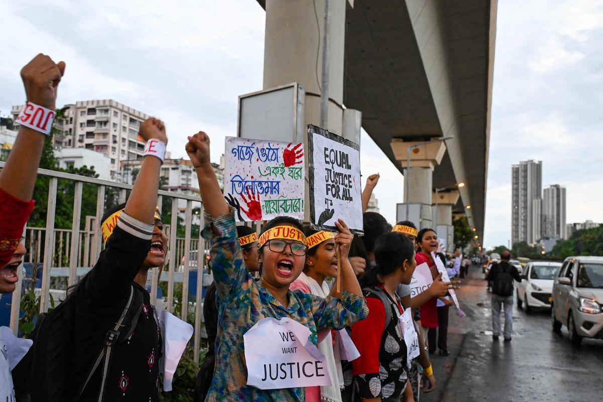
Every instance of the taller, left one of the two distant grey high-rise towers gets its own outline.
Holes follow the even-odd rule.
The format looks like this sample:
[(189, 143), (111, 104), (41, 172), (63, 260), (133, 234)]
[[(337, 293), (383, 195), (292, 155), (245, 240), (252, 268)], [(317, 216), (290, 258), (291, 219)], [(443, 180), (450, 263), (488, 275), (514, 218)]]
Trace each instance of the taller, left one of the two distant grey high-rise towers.
[(539, 215), (534, 215), (542, 194), (542, 162), (528, 160), (511, 167), (511, 242), (533, 244), (540, 239)]

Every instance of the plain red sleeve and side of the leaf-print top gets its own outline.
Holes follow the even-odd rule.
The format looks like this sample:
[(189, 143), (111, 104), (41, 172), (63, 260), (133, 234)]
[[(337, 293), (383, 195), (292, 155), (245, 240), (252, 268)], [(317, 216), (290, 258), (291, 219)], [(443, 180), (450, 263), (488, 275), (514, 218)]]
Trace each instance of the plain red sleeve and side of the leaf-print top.
[(352, 341), (360, 357), (352, 362), (354, 375), (379, 372), (379, 348), (385, 328), (383, 302), (367, 297), (368, 317), (352, 325)]

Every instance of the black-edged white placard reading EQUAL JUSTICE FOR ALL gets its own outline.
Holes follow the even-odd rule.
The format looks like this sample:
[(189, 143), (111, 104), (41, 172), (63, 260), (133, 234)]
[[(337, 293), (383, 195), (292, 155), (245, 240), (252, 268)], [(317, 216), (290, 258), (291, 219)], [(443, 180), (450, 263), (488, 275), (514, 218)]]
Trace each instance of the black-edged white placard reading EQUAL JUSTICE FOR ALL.
[(309, 124), (308, 149), (310, 221), (333, 231), (341, 218), (353, 233), (363, 234), (359, 146)]

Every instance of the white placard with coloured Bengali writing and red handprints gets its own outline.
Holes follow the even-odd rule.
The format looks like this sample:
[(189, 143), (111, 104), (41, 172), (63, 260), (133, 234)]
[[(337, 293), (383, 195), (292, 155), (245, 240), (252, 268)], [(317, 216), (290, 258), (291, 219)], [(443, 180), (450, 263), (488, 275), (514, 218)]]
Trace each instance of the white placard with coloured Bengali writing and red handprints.
[(238, 222), (303, 219), (303, 143), (226, 137), (224, 155), (224, 196)]

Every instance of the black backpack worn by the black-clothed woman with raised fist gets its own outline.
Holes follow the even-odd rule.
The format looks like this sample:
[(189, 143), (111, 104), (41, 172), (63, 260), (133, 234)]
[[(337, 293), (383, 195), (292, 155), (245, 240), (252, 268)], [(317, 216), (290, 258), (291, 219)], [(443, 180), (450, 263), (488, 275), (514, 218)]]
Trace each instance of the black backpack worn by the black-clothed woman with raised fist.
[(79, 386), (74, 398), (69, 395), (68, 385), (69, 372), (72, 359), (74, 359), (72, 346), (75, 327), (75, 297), (68, 297), (51, 312), (40, 314), (36, 327), (30, 335), (30, 339), (33, 339), (34, 343), (12, 371), (17, 400), (25, 402), (77, 401), (99, 367), (104, 370), (101, 397), (99, 397), (99, 400), (102, 400), (106, 372), (112, 358), (112, 347), (131, 335), (142, 311), (142, 294), (134, 291), (133, 286), (130, 288), (130, 298), (128, 298), (119, 321), (107, 330), (104, 344), (98, 345), (98, 357), (90, 363), (90, 369), (84, 377), (86, 380)]

